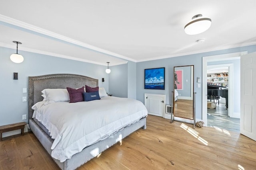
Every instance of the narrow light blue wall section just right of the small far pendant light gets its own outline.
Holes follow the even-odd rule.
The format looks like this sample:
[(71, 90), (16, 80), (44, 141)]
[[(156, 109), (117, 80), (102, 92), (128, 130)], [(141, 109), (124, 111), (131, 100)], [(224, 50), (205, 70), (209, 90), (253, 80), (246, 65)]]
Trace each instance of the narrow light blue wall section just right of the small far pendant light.
[(128, 96), (128, 74), (127, 64), (110, 67), (109, 74), (109, 93), (120, 98)]

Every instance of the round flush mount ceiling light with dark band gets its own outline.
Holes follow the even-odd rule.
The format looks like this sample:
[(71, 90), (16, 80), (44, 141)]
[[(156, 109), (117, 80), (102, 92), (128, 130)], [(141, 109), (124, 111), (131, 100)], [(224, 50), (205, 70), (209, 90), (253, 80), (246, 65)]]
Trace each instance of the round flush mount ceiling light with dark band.
[(192, 21), (187, 23), (184, 27), (184, 31), (188, 35), (200, 34), (210, 28), (212, 20), (205, 18), (202, 14), (197, 14), (192, 17)]

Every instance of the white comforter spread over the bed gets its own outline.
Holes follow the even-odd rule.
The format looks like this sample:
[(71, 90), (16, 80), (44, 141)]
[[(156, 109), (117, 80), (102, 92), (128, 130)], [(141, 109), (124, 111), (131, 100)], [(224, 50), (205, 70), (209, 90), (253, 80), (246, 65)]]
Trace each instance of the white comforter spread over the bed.
[(148, 114), (142, 102), (113, 96), (90, 102), (44, 103), (32, 106), (33, 118), (49, 130), (54, 139), (52, 157), (60, 162)]

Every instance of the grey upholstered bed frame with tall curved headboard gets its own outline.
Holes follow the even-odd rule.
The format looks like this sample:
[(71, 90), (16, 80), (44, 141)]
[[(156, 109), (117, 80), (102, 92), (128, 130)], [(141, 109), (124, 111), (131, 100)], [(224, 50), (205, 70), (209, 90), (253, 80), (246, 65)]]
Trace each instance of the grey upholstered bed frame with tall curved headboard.
[[(41, 91), (46, 88), (80, 88), (85, 85), (96, 87), (98, 86), (98, 80), (76, 74), (49, 74), (28, 77), (29, 127), (50, 155), (53, 139), (51, 139), (48, 130), (39, 121), (32, 119), (33, 109), (31, 107), (43, 100)], [(81, 152), (74, 154), (72, 158), (67, 159), (65, 162), (60, 162), (55, 158), (53, 159), (62, 170), (74, 170), (141, 127), (146, 129), (146, 117), (125, 127), (122, 131), (118, 131), (114, 135), (84, 148)]]

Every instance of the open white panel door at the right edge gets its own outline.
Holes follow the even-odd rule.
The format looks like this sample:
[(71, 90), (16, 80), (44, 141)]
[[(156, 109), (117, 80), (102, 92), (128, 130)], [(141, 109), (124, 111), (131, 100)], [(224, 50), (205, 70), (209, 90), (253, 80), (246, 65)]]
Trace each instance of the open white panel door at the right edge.
[(256, 52), (241, 56), (240, 133), (256, 141)]

